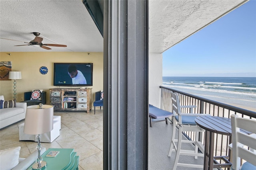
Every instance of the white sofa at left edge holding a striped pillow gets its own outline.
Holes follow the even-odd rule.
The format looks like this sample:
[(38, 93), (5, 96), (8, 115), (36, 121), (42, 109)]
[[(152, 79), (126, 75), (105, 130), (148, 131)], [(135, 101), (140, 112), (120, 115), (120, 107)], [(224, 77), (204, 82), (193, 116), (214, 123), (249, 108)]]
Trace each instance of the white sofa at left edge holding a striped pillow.
[[(4, 96), (0, 96), (4, 100)], [(16, 102), (16, 107), (0, 109), (0, 129), (25, 119), (27, 103)]]

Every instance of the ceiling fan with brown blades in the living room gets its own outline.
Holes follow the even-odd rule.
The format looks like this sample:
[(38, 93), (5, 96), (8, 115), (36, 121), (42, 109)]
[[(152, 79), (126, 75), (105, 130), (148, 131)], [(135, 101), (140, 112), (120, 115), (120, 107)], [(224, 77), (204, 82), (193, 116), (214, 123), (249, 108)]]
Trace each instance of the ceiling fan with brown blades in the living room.
[[(26, 45), (34, 45), (34, 46), (38, 46), (41, 47), (43, 49), (46, 50), (50, 50), (51, 48), (46, 47), (46, 46), (53, 46), (53, 47), (67, 47), (66, 45), (61, 45), (61, 44), (43, 44), (43, 38), (42, 37), (38, 37), (40, 35), (40, 33), (38, 32), (33, 32), (33, 34), (36, 36), (32, 41), (30, 41), (28, 44)], [(6, 38), (2, 38), (2, 39), (6, 39)], [(9, 39), (9, 40), (13, 40), (13, 39)], [(13, 40), (16, 41), (16, 40)], [(27, 43), (27, 42), (24, 42)], [(14, 45), (14, 46), (24, 46), (24, 45)]]

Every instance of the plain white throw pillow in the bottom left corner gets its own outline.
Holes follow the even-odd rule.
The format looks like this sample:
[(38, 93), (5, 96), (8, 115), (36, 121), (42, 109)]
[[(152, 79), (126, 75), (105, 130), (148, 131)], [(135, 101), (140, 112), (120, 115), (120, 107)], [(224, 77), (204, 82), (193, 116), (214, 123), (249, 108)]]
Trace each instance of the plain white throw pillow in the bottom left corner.
[(20, 147), (0, 150), (0, 169), (11, 170), (19, 164)]

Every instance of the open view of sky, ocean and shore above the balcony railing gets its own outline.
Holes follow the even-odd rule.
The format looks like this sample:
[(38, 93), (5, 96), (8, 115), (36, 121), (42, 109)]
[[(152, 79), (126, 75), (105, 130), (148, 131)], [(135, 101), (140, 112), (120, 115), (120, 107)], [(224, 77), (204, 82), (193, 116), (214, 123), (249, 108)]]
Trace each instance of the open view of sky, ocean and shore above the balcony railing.
[(164, 51), (162, 85), (256, 111), (255, 6), (250, 0)]

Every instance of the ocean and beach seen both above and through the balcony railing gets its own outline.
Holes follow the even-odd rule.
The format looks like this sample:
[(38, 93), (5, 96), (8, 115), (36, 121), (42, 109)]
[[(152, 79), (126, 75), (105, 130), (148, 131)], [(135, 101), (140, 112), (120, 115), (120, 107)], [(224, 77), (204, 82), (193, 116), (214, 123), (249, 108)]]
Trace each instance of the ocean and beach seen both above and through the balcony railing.
[[(256, 77), (163, 76), (162, 85), (216, 102), (256, 111)], [(168, 94), (164, 96), (164, 98), (165, 97), (168, 98)], [(193, 105), (196, 105), (197, 108), (200, 107), (196, 102)], [(218, 115), (220, 117), (229, 117), (231, 114), (235, 113), (229, 109), (207, 104), (204, 106), (203, 110), (204, 113), (209, 113), (213, 116)], [(240, 113), (237, 114), (240, 115)], [(249, 118), (246, 115), (244, 115), (244, 117)], [(190, 134), (190, 137), (193, 138), (194, 134)], [(226, 155), (229, 138), (215, 134), (215, 139), (214, 145), (216, 147), (214, 148), (214, 153), (217, 155)]]

